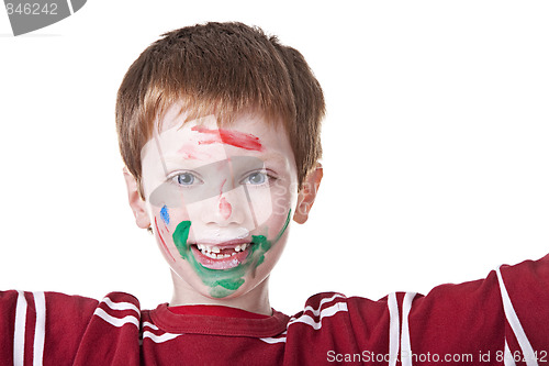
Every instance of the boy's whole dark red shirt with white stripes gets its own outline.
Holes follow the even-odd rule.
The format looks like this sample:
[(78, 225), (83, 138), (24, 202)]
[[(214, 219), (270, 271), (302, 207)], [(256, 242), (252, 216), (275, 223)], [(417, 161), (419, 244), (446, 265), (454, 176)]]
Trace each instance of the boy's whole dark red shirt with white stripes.
[(291, 318), (223, 311), (232, 313), (142, 311), (123, 292), (97, 301), (4, 291), (0, 364), (548, 365), (549, 256), (427, 296), (318, 293)]

